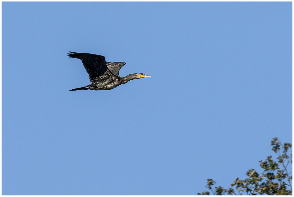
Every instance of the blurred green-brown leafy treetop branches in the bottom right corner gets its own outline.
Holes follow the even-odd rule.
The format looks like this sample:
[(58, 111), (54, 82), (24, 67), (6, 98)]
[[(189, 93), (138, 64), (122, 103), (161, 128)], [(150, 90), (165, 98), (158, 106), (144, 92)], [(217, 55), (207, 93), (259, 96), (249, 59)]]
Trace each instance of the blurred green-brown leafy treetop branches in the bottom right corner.
[[(288, 172), (288, 164), (292, 164), (292, 151), (287, 155), (290, 143), (281, 144), (278, 138), (271, 141), (272, 150), (278, 155), (274, 161), (272, 156), (268, 156), (265, 161), (259, 161), (263, 172), (259, 175), (254, 169), (248, 170), (248, 178), (240, 180), (236, 178), (231, 187), (212, 188), (216, 184), (212, 179), (207, 179), (207, 188), (212, 191), (213, 195), (292, 195), (292, 171)], [(282, 147), (282, 153), (280, 151)], [(198, 195), (210, 195), (208, 191), (198, 193)]]

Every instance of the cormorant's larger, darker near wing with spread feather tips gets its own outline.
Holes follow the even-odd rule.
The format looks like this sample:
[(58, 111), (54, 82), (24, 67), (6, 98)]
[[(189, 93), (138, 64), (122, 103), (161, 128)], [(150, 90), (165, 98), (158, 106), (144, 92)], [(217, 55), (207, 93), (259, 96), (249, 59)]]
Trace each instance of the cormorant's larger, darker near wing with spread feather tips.
[(68, 53), (69, 57), (77, 58), (82, 60), (82, 63), (89, 74), (90, 81), (99, 76), (102, 76), (106, 71), (108, 71), (105, 57), (102, 55), (95, 55), (90, 53)]

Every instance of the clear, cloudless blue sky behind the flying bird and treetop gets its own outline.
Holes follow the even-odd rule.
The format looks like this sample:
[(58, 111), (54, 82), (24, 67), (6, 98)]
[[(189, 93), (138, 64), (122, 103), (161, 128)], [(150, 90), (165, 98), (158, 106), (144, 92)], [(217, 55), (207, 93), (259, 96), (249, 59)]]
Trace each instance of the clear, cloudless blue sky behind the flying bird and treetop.
[[(144, 73), (108, 91), (68, 51)], [(3, 195), (195, 195), (292, 143), (292, 2), (2, 2)]]

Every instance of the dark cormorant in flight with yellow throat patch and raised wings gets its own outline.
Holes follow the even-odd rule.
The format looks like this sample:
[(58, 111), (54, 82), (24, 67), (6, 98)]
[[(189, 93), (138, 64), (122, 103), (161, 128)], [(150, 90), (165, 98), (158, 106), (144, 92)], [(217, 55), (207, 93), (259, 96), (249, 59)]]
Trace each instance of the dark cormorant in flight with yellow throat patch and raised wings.
[(143, 73), (129, 74), (125, 77), (119, 76), (119, 70), (125, 62), (107, 62), (102, 55), (95, 55), (90, 53), (68, 53), (69, 57), (82, 60), (82, 63), (89, 74), (91, 84), (75, 90), (111, 90), (121, 84), (125, 84), (133, 79), (141, 79), (144, 77), (151, 77)]

